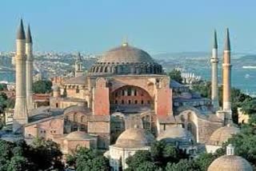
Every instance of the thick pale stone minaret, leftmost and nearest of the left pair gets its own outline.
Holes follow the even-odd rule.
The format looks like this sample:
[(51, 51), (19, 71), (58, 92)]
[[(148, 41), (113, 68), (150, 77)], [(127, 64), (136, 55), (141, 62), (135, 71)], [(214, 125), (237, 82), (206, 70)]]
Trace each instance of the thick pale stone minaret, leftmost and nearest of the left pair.
[(22, 125), (28, 121), (26, 108), (26, 37), (21, 20), (16, 39), (16, 99), (13, 132), (22, 133)]

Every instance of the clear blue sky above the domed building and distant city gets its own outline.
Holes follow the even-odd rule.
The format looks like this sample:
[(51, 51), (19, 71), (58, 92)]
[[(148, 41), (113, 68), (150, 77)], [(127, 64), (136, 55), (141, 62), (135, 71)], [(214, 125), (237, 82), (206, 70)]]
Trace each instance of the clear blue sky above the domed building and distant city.
[(219, 49), (256, 53), (255, 0), (1, 0), (0, 51), (15, 50), (20, 18), (34, 50), (102, 53), (122, 44), (150, 54)]

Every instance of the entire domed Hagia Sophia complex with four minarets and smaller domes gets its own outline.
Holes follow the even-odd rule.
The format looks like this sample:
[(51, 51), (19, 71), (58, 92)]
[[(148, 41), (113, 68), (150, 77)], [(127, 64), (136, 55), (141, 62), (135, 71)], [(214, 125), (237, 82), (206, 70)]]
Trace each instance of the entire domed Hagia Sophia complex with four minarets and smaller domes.
[[(120, 165), (126, 169), (126, 158), (138, 150), (150, 150), (154, 141), (172, 143), (196, 156), (214, 153), (240, 131), (232, 121), (228, 29), (222, 63), (223, 106), (218, 106), (216, 32), (210, 58), (211, 99), (170, 80), (150, 54), (123, 42), (102, 54), (87, 73), (78, 54), (74, 77), (52, 78), (50, 105), (34, 109), (33, 42), (30, 27), (25, 34), (22, 21), (16, 45), (13, 133), (19, 133), (28, 143), (34, 137), (51, 139), (60, 145), (64, 158), (78, 146), (85, 146), (104, 151), (113, 170), (119, 170)], [(237, 168), (252, 170), (245, 159), (234, 156), (232, 145), (226, 149), (227, 155), (214, 161), (208, 170), (230, 170), (222, 165), (232, 160), (237, 160)]]

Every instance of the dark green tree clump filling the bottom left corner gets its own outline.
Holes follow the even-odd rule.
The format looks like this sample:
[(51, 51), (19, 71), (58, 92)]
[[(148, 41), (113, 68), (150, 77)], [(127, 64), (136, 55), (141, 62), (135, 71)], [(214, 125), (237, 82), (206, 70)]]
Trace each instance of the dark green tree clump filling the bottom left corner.
[(62, 153), (54, 141), (36, 138), (32, 145), (25, 141), (0, 140), (0, 171), (62, 170)]

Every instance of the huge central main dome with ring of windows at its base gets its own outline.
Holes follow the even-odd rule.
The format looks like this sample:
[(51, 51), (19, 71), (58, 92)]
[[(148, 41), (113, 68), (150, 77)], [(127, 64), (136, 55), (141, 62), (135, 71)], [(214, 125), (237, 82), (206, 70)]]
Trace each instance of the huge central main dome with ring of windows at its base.
[(90, 74), (162, 74), (162, 66), (146, 51), (123, 43), (103, 54)]

